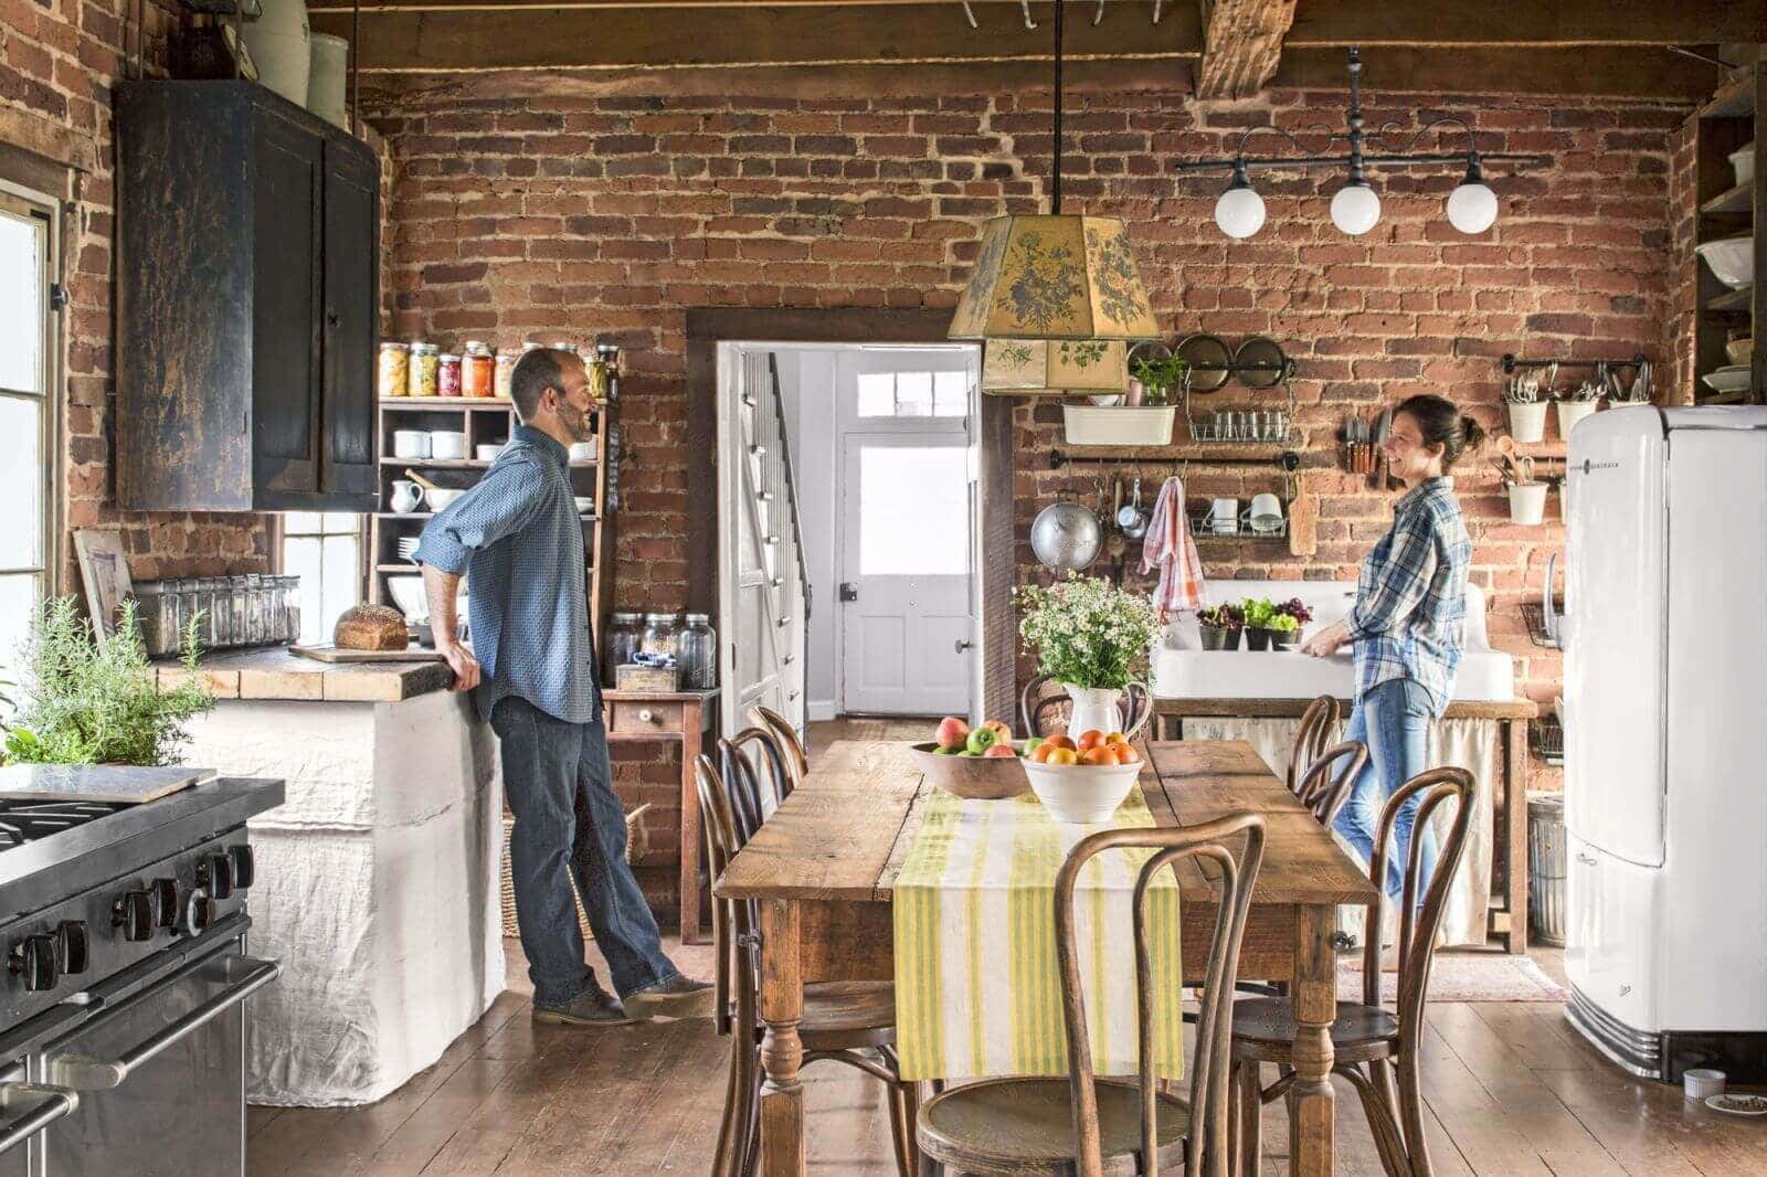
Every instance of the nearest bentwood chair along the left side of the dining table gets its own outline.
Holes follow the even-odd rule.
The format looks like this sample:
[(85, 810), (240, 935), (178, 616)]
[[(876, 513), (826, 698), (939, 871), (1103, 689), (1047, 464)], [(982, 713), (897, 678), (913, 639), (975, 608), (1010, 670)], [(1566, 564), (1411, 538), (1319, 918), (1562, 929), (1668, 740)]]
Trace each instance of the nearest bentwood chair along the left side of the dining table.
[[(753, 762), (735, 740), (719, 740), (717, 753), (723, 771), (710, 756), (701, 755), (694, 762), (694, 774), (712, 871), (721, 875), (760, 829), (760, 785)], [(714, 928), (721, 976), (719, 1029), (723, 1032), (728, 1027), (730, 1032), (730, 1076), (717, 1150), (712, 1154), (712, 1177), (747, 1177), (760, 1159), (762, 1023), (755, 905), (719, 900)], [(799, 1037), (806, 1066), (823, 1059), (845, 1062), (885, 1083), (896, 1172), (899, 1177), (912, 1177), (914, 1110), (919, 1096), (915, 1083), (903, 1083), (896, 1067), (894, 986), (887, 981), (806, 984)]]

